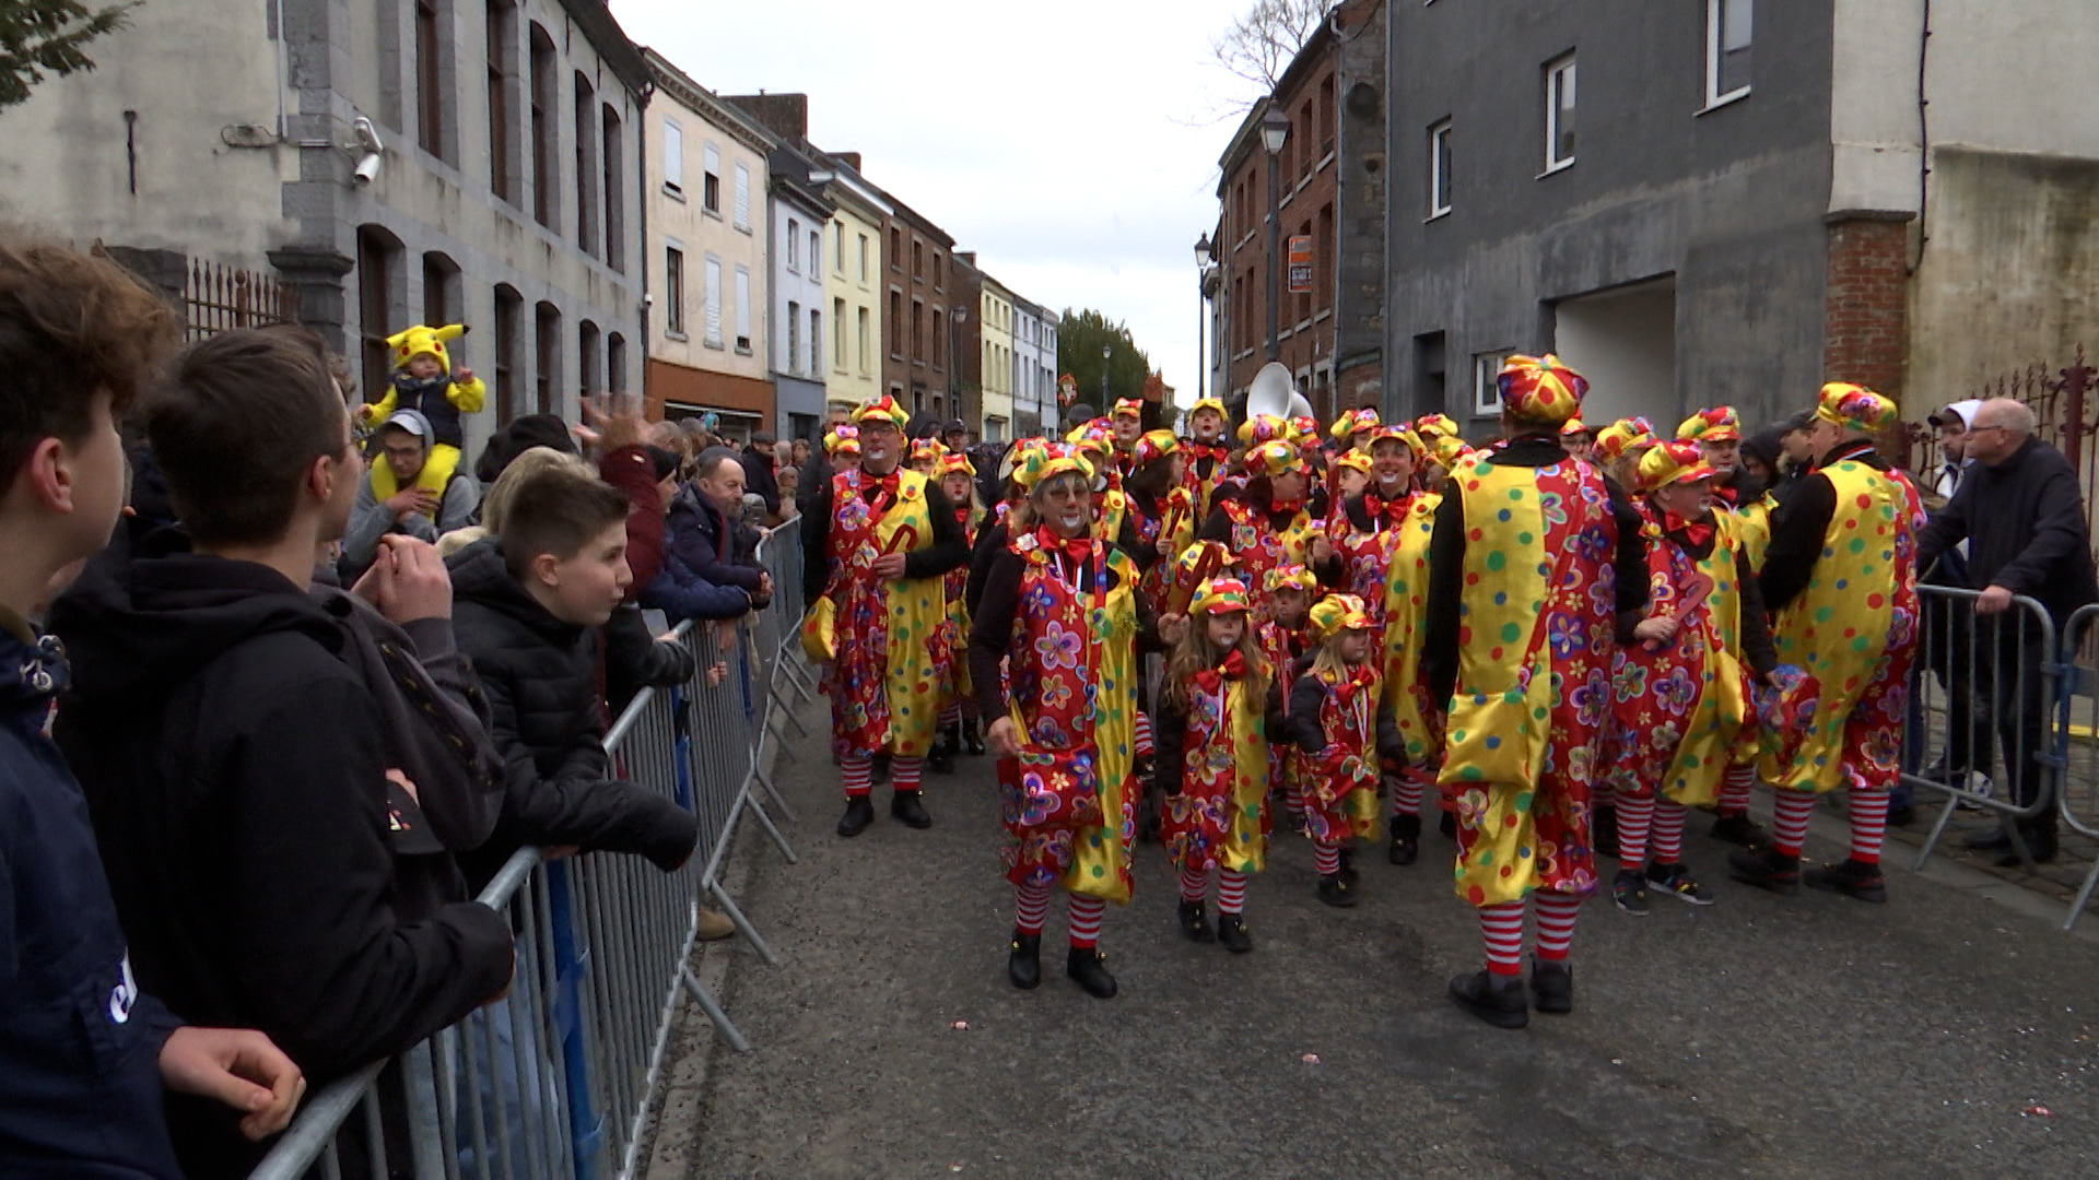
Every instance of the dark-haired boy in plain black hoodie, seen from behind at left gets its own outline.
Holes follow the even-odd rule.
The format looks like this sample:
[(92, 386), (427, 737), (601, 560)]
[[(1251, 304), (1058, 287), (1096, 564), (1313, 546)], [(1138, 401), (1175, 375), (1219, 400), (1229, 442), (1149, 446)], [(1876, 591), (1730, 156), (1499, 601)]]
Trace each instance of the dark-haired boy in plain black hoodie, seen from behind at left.
[[(510, 926), (474, 903), (399, 909), (384, 722), (306, 596), (363, 477), (319, 353), (260, 330), (195, 344), (147, 435), (187, 531), (90, 563), (55, 603), (78, 676), (57, 737), (139, 983), (327, 1081), (500, 995)], [(256, 1159), (216, 1107), (170, 1102), (168, 1123), (191, 1174)]]

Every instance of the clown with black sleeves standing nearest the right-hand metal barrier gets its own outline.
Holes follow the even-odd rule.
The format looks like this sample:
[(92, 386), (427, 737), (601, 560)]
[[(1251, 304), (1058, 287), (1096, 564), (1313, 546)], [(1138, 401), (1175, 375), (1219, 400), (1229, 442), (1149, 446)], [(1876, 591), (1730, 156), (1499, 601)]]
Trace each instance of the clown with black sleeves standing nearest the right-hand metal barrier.
[[(1767, 739), (1763, 781), (1774, 787), (1772, 844), (1734, 852), (1738, 880), (1774, 892), (1811, 886), (1887, 901), (1881, 838), (1900, 779), (1910, 661), (1916, 655), (1916, 531), (1923, 498), (1874, 451), (1895, 405), (1856, 384), (1822, 386), (1814, 426), (1816, 470), (1772, 514), (1763, 600), (1778, 661), (1801, 676), (1782, 684), (1782, 735)], [(1801, 844), (1816, 796), (1849, 792), (1851, 855), (1801, 873)]]

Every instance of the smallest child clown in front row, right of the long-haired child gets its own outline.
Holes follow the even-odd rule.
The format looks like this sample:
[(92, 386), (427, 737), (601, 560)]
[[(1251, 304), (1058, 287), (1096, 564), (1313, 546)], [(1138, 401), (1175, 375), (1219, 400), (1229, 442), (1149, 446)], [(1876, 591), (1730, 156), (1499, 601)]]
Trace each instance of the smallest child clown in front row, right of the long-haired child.
[(1371, 613), (1354, 594), (1327, 594), (1312, 605), (1320, 645), (1293, 666), (1289, 726), (1306, 768), (1306, 836), (1318, 865), (1318, 899), (1356, 905), (1354, 838), (1377, 840), (1377, 756), (1398, 745), (1398, 733), (1377, 708)]

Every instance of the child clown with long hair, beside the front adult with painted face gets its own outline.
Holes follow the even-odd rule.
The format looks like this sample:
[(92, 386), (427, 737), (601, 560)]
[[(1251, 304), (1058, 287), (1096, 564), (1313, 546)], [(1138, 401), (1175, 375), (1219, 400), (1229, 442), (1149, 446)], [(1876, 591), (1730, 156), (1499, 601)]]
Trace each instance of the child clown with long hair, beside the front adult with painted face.
[[(1272, 705), (1280, 703), (1274, 668), (1253, 642), (1249, 613), (1245, 582), (1203, 582), (1159, 693), (1159, 781), (1167, 794), (1161, 842), (1182, 882), (1180, 928), (1196, 943), (1220, 941), (1232, 953), (1253, 949), (1245, 920), (1247, 878), (1268, 863), (1266, 724)], [(1211, 873), (1217, 876), (1215, 932), (1203, 915)]]

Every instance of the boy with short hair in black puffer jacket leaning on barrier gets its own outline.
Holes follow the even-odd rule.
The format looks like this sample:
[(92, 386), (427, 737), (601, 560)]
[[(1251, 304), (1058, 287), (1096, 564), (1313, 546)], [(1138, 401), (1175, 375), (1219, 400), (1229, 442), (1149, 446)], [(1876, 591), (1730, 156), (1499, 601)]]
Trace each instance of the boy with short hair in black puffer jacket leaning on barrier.
[(699, 825), (667, 783), (611, 781), (598, 699), (598, 628), (619, 609), (628, 500), (550, 468), (525, 479), (495, 538), (451, 554), (453, 628), (489, 697), (504, 758), (504, 808), (476, 880), (525, 844), (634, 852), (663, 871), (693, 855)]

